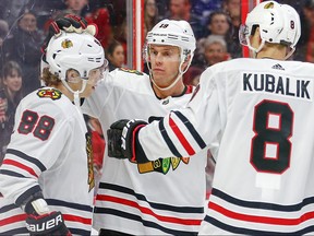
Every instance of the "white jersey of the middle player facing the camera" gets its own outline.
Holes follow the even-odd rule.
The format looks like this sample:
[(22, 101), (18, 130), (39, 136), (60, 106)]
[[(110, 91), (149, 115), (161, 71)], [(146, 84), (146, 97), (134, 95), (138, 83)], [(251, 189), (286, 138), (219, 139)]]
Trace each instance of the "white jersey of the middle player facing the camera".
[[(183, 107), (192, 87), (178, 97), (156, 97), (147, 74), (117, 69), (83, 104), (102, 130), (119, 119), (160, 118)], [(106, 137), (107, 139), (107, 137)], [(137, 165), (107, 156), (96, 197), (94, 227), (132, 235), (197, 234), (204, 219), (206, 151), (190, 160), (166, 158)]]

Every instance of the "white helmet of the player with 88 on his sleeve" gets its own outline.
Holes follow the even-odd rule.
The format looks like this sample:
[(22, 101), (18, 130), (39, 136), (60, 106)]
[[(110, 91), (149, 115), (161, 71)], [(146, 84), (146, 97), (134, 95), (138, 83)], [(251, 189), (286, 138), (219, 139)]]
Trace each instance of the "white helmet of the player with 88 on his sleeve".
[(82, 79), (87, 79), (90, 70), (108, 62), (100, 43), (88, 33), (65, 33), (52, 37), (47, 47), (46, 60), (51, 73), (65, 80), (67, 71), (74, 69)]

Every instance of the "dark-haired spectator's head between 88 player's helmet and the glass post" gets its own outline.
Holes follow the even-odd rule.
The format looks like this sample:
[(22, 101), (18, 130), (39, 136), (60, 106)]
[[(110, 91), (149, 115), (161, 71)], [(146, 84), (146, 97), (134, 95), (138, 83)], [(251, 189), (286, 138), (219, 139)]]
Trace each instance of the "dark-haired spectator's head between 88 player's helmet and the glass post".
[(125, 60), (125, 54), (123, 46), (119, 42), (113, 40), (109, 45), (106, 55), (109, 61), (109, 71), (112, 71), (116, 68), (123, 67)]

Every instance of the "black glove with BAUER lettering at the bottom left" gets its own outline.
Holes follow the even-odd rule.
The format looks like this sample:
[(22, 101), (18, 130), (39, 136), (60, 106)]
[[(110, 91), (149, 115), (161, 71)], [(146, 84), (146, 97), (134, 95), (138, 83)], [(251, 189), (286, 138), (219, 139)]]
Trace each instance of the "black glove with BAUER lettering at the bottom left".
[(31, 236), (58, 235), (71, 236), (71, 232), (64, 224), (61, 212), (50, 212), (44, 215), (27, 215), (26, 227)]

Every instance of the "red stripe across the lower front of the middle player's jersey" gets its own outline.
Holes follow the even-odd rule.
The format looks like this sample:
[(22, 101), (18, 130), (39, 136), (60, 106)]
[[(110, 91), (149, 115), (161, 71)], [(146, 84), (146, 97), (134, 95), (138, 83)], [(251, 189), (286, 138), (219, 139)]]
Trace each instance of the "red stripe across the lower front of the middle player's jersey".
[(126, 200), (126, 199), (122, 199), (122, 198), (118, 198), (118, 197), (106, 196), (106, 194), (97, 194), (96, 199), (100, 200), (100, 201), (110, 201), (110, 202), (116, 202), (116, 203), (119, 203), (119, 204), (124, 204), (124, 205), (129, 205), (129, 206), (132, 206), (132, 208), (136, 208), (143, 214), (152, 215), (152, 216), (154, 216), (157, 220), (162, 221), (162, 222), (169, 222), (169, 223), (182, 224), (182, 225), (201, 225), (201, 222), (202, 222), (201, 220), (178, 219), (178, 217), (171, 217), (171, 216), (162, 216), (162, 215), (156, 214), (155, 212), (153, 212), (148, 208), (141, 206), (137, 202), (134, 202), (134, 201), (131, 201), (131, 200)]

